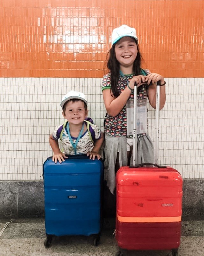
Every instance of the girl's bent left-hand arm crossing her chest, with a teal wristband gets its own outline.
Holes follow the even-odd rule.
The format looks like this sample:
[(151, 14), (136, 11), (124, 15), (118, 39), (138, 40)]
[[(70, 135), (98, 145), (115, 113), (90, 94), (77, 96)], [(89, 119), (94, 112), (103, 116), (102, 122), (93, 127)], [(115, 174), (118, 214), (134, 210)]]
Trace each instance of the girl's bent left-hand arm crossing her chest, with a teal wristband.
[(117, 98), (112, 96), (111, 89), (103, 90), (104, 104), (110, 116), (117, 116), (120, 113), (120, 111), (125, 106), (127, 100), (129, 99), (132, 90), (134, 89), (135, 82), (137, 84), (145, 82), (145, 77), (146, 76), (143, 75), (134, 76), (129, 83), (130, 88), (128, 88), (127, 86)]

